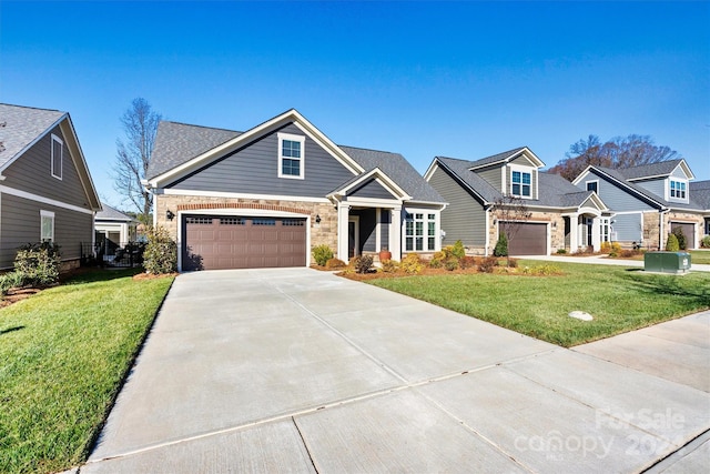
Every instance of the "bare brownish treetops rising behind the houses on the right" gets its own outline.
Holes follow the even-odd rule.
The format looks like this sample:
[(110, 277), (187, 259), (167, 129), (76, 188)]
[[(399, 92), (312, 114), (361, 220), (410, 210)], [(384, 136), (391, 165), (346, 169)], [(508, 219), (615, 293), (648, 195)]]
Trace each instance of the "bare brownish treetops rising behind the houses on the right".
[(649, 135), (637, 134), (616, 137), (605, 143), (601, 143), (599, 137), (589, 135), (587, 140), (582, 139), (571, 144), (565, 157), (550, 168), (549, 172), (560, 174), (569, 181), (577, 178), (588, 165), (618, 169), (682, 158), (668, 147), (653, 144)]

